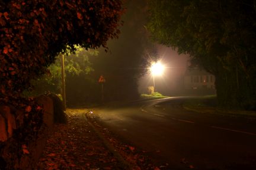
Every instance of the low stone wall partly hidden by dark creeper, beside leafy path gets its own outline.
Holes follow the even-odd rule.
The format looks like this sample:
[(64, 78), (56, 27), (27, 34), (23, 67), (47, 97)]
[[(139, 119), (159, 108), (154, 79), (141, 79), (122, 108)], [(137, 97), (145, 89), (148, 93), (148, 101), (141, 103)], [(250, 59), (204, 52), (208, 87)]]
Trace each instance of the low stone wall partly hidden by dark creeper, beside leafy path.
[[(39, 160), (44, 145), (46, 144), (47, 134), (53, 129), (54, 106), (53, 100), (48, 96), (40, 96), (36, 100), (37, 103), (43, 107), (43, 124), (39, 133), (33, 136), (33, 140), (28, 142), (25, 146), (28, 152), (24, 152), (21, 158), (9, 158), (9, 152), (13, 152), (14, 146), (20, 146), (17, 145), (17, 141), (12, 138), (15, 130), (19, 130), (19, 128), (23, 126), (25, 113), (12, 106), (0, 106), (0, 164), (5, 164), (5, 162), (9, 161), (7, 159), (14, 159), (13, 169), (33, 169), (33, 166)], [(22, 149), (24, 148), (17, 148), (17, 155)], [(15, 157), (15, 153), (11, 154)], [(2, 167), (4, 167), (4, 165), (2, 165)]]

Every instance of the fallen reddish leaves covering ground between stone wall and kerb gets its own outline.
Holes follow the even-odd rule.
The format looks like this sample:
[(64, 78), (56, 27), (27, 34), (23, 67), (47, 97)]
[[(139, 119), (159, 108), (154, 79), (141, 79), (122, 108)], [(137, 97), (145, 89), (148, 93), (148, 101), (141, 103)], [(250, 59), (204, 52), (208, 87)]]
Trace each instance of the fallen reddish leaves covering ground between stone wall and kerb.
[(77, 110), (68, 123), (55, 125), (36, 169), (122, 169)]

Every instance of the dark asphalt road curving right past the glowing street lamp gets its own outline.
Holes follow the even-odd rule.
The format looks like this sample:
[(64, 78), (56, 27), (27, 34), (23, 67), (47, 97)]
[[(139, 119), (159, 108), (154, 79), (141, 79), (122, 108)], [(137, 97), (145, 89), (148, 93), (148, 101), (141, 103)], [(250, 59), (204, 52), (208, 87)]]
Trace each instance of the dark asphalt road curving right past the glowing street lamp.
[(256, 169), (256, 121), (183, 109), (186, 97), (100, 109), (97, 121), (162, 169)]

